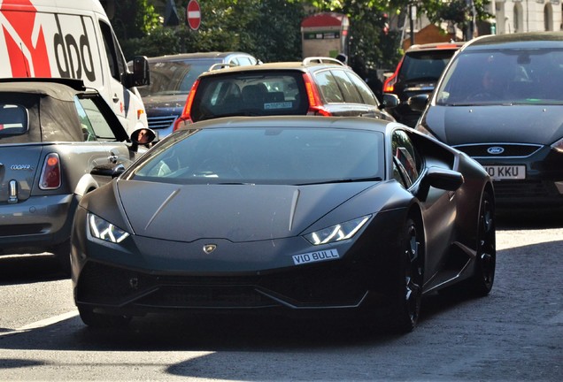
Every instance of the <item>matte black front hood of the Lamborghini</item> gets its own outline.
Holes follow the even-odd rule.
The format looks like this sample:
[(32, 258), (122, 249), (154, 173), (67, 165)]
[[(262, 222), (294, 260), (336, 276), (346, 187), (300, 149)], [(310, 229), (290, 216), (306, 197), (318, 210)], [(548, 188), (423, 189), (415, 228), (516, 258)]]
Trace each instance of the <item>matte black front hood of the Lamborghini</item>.
[(173, 185), (120, 180), (118, 192), (137, 235), (167, 241), (242, 242), (296, 236), (373, 185)]

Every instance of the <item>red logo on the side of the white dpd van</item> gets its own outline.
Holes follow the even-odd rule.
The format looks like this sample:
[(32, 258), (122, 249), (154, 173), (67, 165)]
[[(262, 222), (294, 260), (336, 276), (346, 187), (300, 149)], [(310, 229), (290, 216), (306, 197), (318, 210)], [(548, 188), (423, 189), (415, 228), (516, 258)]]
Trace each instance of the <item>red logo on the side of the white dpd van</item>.
[(42, 27), (35, 29), (35, 7), (30, 1), (22, 1), (26, 11), (0, 12), (8, 21), (2, 24), (6, 48), (10, 57), (13, 77), (50, 77), (49, 56)]

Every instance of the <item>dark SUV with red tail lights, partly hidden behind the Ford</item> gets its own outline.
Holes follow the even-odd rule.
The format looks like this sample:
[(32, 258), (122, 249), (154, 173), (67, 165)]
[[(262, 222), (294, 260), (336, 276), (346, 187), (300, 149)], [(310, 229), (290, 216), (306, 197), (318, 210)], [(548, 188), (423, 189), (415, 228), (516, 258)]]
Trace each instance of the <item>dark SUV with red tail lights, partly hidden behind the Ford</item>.
[(383, 83), (383, 93), (395, 94), (400, 104), (391, 110), (398, 122), (414, 127), (420, 111), (413, 111), (407, 101), (412, 95), (432, 93), (436, 82), (453, 54), (464, 42), (437, 42), (413, 45), (397, 65), (395, 73)]

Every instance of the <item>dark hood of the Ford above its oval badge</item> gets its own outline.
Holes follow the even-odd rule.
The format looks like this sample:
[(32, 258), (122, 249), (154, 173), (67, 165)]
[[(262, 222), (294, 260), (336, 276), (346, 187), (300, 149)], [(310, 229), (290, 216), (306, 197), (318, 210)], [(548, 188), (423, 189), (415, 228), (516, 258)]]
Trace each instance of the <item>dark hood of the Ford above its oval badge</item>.
[(431, 106), (425, 125), (452, 146), (485, 142), (549, 145), (563, 136), (563, 105)]

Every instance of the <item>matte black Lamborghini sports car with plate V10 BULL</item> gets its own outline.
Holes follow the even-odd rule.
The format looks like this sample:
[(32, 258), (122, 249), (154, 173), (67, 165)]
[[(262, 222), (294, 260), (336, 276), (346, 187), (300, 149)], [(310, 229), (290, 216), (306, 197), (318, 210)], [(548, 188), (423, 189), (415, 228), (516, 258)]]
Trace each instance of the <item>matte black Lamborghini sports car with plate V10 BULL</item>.
[(490, 292), (494, 206), (480, 164), (396, 122), (199, 122), (82, 198), (75, 303), (92, 326), (330, 310), (408, 332), (423, 294)]

